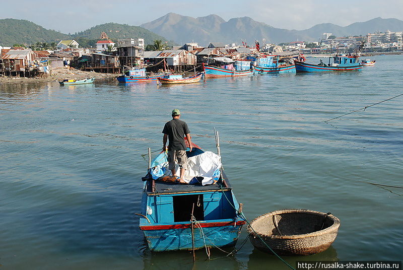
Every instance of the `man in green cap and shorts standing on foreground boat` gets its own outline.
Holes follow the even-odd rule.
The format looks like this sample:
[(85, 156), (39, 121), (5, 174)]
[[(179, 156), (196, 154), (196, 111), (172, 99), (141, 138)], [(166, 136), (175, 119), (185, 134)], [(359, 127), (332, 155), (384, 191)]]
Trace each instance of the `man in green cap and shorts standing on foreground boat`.
[(180, 111), (174, 109), (172, 111), (172, 120), (165, 123), (162, 133), (164, 133), (162, 148), (163, 151), (167, 150), (167, 140), (169, 139), (168, 145), (168, 163), (169, 169), (172, 171), (172, 175), (175, 176), (175, 160), (179, 164), (180, 169), (180, 179), (181, 183), (185, 183), (183, 180), (183, 175), (187, 168), (187, 157), (186, 157), (186, 144), (184, 137), (189, 144), (190, 152), (192, 151), (192, 142), (190, 140), (190, 131), (187, 124), (184, 121), (179, 120)]

